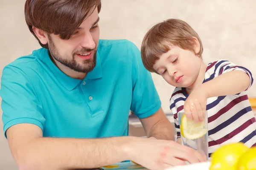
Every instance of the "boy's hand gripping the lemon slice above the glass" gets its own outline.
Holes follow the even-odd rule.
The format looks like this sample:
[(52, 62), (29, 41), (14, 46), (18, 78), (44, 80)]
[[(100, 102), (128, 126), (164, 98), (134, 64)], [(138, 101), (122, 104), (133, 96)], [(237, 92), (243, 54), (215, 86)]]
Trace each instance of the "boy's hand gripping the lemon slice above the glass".
[(202, 86), (189, 94), (184, 104), (184, 112), (188, 119), (194, 119), (195, 122), (204, 120), (207, 98), (207, 93)]

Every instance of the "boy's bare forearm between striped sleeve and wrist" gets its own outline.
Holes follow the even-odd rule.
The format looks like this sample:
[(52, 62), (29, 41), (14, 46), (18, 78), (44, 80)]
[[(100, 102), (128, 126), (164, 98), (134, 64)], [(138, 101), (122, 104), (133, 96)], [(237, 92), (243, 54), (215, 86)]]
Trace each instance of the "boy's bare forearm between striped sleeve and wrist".
[(234, 70), (203, 83), (201, 90), (206, 91), (207, 96), (210, 98), (238, 94), (246, 90), (249, 85), (249, 76), (243, 71)]

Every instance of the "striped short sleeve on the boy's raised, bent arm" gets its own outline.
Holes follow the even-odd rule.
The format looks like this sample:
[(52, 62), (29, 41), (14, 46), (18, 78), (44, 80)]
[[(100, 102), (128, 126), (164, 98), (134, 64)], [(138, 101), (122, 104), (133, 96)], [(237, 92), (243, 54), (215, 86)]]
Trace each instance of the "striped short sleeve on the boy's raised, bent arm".
[(233, 62), (227, 61), (227, 60), (218, 60), (215, 65), (215, 77), (233, 71), (233, 70), (240, 70), (244, 71), (248, 77), (250, 78), (250, 85), (246, 89), (246, 91), (253, 85), (253, 76), (252, 73), (247, 69), (242, 66), (236, 65)]

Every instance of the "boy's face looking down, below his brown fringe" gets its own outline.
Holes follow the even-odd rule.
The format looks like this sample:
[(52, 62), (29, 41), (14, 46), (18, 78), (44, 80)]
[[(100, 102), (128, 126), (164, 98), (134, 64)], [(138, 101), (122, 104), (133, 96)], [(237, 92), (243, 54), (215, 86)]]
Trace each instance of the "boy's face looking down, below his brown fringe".
[(201, 68), (202, 59), (193, 51), (171, 46), (171, 50), (160, 56), (153, 68), (175, 87), (187, 88), (195, 82)]

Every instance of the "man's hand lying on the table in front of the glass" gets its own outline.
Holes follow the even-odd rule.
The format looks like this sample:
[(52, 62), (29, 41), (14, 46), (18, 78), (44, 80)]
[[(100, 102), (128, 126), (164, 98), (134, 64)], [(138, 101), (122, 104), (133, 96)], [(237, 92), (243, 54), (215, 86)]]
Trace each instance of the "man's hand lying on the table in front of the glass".
[(174, 141), (137, 138), (127, 145), (128, 157), (151, 170), (206, 161), (196, 150)]

